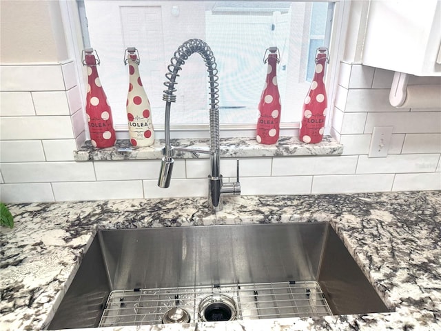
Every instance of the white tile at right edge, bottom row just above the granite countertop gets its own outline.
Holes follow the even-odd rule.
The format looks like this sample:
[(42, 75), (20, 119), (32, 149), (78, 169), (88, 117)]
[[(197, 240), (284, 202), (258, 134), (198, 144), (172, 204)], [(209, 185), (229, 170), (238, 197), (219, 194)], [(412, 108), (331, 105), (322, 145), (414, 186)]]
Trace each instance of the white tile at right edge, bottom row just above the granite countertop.
[(441, 190), (441, 172), (396, 174), (392, 190)]

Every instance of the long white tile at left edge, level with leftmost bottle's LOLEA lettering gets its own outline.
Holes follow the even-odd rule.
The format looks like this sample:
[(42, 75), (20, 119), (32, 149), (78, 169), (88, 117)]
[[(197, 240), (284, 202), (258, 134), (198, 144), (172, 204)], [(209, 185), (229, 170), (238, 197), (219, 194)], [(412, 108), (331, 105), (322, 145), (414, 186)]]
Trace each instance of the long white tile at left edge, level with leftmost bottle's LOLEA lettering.
[(3, 117), (1, 140), (73, 139), (69, 116)]

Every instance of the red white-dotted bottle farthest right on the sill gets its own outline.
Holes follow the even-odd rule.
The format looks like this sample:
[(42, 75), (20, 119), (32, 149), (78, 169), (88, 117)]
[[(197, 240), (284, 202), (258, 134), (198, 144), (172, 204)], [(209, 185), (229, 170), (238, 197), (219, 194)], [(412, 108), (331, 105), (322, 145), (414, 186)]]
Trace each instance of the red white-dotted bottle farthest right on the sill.
[(325, 130), (327, 96), (325, 89), (325, 66), (328, 61), (327, 48), (320, 47), (316, 54), (316, 71), (305, 102), (300, 122), (300, 141), (320, 143)]

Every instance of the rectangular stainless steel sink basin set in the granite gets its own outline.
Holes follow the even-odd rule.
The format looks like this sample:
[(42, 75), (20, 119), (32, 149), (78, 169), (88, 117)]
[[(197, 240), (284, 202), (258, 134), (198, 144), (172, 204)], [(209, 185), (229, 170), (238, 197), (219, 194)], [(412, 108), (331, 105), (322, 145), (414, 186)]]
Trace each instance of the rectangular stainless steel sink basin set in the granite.
[(387, 311), (327, 222), (102, 230), (49, 330)]

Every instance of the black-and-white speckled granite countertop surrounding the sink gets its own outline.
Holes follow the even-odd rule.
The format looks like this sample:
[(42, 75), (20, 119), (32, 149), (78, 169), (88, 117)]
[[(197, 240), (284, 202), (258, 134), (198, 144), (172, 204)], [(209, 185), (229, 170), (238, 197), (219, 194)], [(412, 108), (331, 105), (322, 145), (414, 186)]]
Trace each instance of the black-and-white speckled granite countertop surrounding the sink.
[[(441, 330), (441, 192), (21, 203), (1, 228), (1, 330), (41, 330), (96, 230), (329, 221), (393, 312), (101, 330)], [(360, 298), (361, 299), (361, 298)]]

